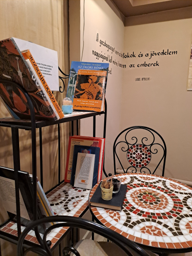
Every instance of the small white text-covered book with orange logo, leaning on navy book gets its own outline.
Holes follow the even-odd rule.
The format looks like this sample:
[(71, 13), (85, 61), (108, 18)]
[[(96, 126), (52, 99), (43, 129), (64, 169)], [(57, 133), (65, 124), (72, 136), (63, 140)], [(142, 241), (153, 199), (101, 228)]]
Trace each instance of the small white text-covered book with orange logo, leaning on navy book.
[(95, 155), (78, 153), (74, 186), (91, 189), (93, 184), (93, 172)]

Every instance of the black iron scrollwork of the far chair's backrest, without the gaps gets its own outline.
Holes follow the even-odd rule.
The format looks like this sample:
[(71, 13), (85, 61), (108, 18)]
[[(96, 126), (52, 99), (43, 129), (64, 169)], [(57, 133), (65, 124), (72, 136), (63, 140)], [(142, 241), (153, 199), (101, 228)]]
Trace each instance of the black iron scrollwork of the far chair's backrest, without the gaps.
[[(148, 138), (145, 136), (145, 137), (143, 137), (143, 138), (141, 139), (141, 143), (139, 143), (139, 142), (138, 142), (138, 138), (137, 138), (136, 136), (133, 136), (133, 137), (131, 138), (131, 140), (133, 140), (134, 143), (129, 142), (129, 141), (128, 141), (128, 138), (127, 138), (129, 132), (131, 132), (131, 131), (133, 131), (133, 130), (136, 130), (136, 129), (146, 130), (147, 132), (149, 132), (149, 133), (152, 135), (152, 138), (150, 138), (150, 140), (148, 140)], [(126, 134), (125, 134), (125, 141), (117, 142), (117, 139), (119, 138), (119, 136), (120, 136), (121, 134), (123, 134), (124, 132), (126, 132)], [(159, 143), (154, 143), (154, 142), (155, 142), (155, 139), (156, 139), (156, 136), (160, 137), (160, 139), (162, 140), (162, 145), (159, 144)], [(151, 139), (152, 139), (152, 140), (151, 140)], [(151, 141), (151, 142), (149, 142), (149, 141)], [(116, 144), (116, 142), (117, 142), (117, 144)], [(134, 162), (134, 163), (133, 163), (132, 161), (130, 161), (130, 159), (128, 159), (128, 153), (129, 153), (129, 151), (131, 152), (131, 156), (133, 156), (133, 155), (132, 155), (132, 151), (129, 150), (130, 148), (135, 148), (134, 145), (136, 145), (136, 147), (138, 147), (138, 146), (141, 144), (141, 145), (145, 146), (146, 148), (148, 148), (148, 149), (146, 149), (146, 151), (148, 152), (148, 154), (149, 154), (149, 152), (150, 152), (151, 154), (157, 154), (157, 153), (158, 153), (157, 148), (152, 148), (152, 147), (153, 147), (154, 145), (159, 145), (159, 146), (161, 146), (161, 148), (163, 149), (163, 155), (162, 155), (162, 158), (160, 159), (160, 162), (157, 164), (155, 170), (152, 172), (152, 174), (154, 174), (154, 172), (156, 171), (156, 169), (158, 168), (158, 166), (160, 165), (160, 163), (161, 163), (162, 160), (164, 159), (164, 161), (163, 161), (163, 168), (162, 168), (162, 176), (164, 176), (164, 168), (165, 168), (165, 160), (166, 160), (166, 144), (165, 144), (165, 142), (164, 142), (162, 136), (160, 136), (160, 134), (158, 134), (158, 132), (156, 132), (155, 130), (153, 130), (153, 129), (151, 129), (151, 128), (145, 127), (145, 126), (132, 126), (132, 127), (130, 127), (130, 128), (127, 128), (127, 129), (123, 130), (123, 131), (117, 136), (117, 138), (115, 139), (114, 145), (113, 145), (113, 157), (114, 157), (114, 158), (115, 158), (115, 156), (117, 157), (117, 159), (118, 159), (118, 161), (119, 161), (119, 163), (120, 163), (120, 165), (121, 165), (121, 168), (122, 168), (123, 171), (124, 171), (123, 164), (121, 163), (121, 161), (120, 161), (120, 159), (119, 159), (119, 156), (117, 155), (117, 152), (116, 152), (116, 147), (117, 147), (117, 145), (118, 145), (119, 143), (125, 143), (125, 144), (126, 144), (126, 147), (123, 146), (123, 147), (121, 148), (121, 151), (127, 152), (127, 160), (129, 160), (128, 162), (129, 162), (129, 164), (131, 164), (131, 166), (129, 166), (129, 167), (127, 168), (126, 173), (127, 173), (127, 171), (129, 170), (129, 168), (133, 167), (134, 170), (132, 170), (132, 173), (136, 173), (136, 172), (137, 172), (137, 168), (140, 168), (140, 172), (141, 172), (141, 173), (146, 173), (146, 171), (147, 171), (147, 172), (149, 172), (149, 173), (151, 174), (150, 169), (146, 167), (146, 165), (148, 165), (149, 162), (150, 162), (149, 159), (148, 159), (148, 161), (146, 161), (146, 162), (144, 162), (143, 164), (141, 164), (141, 166), (139, 166), (138, 160), (137, 160), (137, 163), (135, 164), (135, 158), (134, 158), (134, 157), (133, 157), (133, 162)], [(141, 146), (139, 146), (139, 148), (141, 148)], [(146, 152), (146, 154), (147, 154), (147, 152)], [(133, 154), (134, 154), (134, 152), (133, 152)], [(142, 151), (136, 152), (135, 154), (137, 155), (137, 156), (136, 156), (137, 159), (142, 159)], [(141, 158), (139, 158), (139, 157), (140, 157), (139, 154), (140, 154)], [(129, 156), (129, 157), (130, 157), (130, 156)], [(146, 158), (147, 158), (147, 157), (150, 158), (150, 157), (151, 157), (150, 154), (149, 154), (149, 156), (146, 155)], [(134, 165), (135, 165), (135, 166), (134, 166)], [(138, 165), (138, 166), (137, 166), (137, 165)], [(145, 165), (145, 166), (142, 166), (142, 165)], [(137, 168), (136, 168), (136, 167), (137, 167)], [(145, 168), (146, 170), (143, 170), (143, 168)], [(114, 171), (115, 171), (115, 170), (116, 170), (116, 164), (115, 164), (115, 159), (114, 159)], [(124, 172), (125, 172), (125, 171), (124, 171)], [(116, 172), (115, 172), (115, 174), (116, 174)]]

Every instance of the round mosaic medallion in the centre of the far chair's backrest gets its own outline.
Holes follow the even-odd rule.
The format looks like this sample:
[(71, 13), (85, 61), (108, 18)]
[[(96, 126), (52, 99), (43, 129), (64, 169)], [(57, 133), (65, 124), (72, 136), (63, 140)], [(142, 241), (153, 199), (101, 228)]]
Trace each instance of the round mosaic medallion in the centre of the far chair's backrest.
[(127, 152), (127, 160), (134, 167), (142, 168), (150, 162), (150, 159), (149, 149), (141, 144), (131, 146)]

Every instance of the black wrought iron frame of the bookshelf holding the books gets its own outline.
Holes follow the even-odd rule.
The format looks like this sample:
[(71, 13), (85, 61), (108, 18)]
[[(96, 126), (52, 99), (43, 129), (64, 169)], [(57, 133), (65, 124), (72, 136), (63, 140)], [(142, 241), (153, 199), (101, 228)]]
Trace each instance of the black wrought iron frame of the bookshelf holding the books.
[[(60, 69), (59, 69), (60, 70)], [(60, 70), (61, 71), (61, 70)], [(64, 74), (62, 72), (62, 74)], [(65, 74), (64, 74), (65, 75)], [(66, 75), (65, 75), (66, 76)], [(63, 78), (59, 76), (59, 78), (62, 80)], [(63, 82), (63, 80), (62, 80)], [(32, 104), (32, 100), (30, 98), (30, 95), (25, 90), (23, 86), (20, 84), (17, 84), (10, 80), (0, 80), (0, 83), (7, 83), (10, 84), (10, 86), (16, 86), (19, 88), (24, 96), (26, 97), (27, 104), (30, 108), (31, 113), (31, 120), (17, 120), (14, 118), (0, 118), (0, 126), (2, 127), (9, 127), (11, 128), (12, 132), (12, 149), (13, 149), (13, 160), (14, 160), (14, 178), (15, 178), (15, 193), (16, 193), (16, 225), (17, 225), (17, 236), (14, 234), (10, 234), (8, 232), (3, 231), (3, 227), (8, 227), (9, 223), (12, 221), (11, 218), (6, 220), (4, 223), (0, 225), (0, 238), (7, 240), (9, 242), (12, 242), (14, 244), (18, 243), (18, 239), (22, 232), (22, 225), (20, 221), (20, 198), (19, 198), (19, 182), (18, 182), (18, 170), (20, 170), (20, 146), (19, 146), (19, 129), (29, 130), (31, 131), (31, 143), (32, 143), (32, 175), (33, 175), (33, 220), (38, 219), (38, 206), (37, 206), (37, 183), (36, 183), (36, 177), (37, 177), (37, 159), (36, 159), (36, 129), (39, 129), (39, 140), (40, 140), (40, 183), (43, 187), (43, 146), (42, 146), (42, 128), (46, 126), (51, 125), (57, 125), (57, 131), (58, 131), (58, 184), (51, 188), (49, 191), (46, 192), (46, 194), (50, 193), (52, 190), (57, 188), (60, 184), (64, 182), (64, 180), (61, 181), (61, 142), (60, 142), (60, 125), (65, 122), (71, 122), (71, 136), (73, 136), (74, 132), (74, 121), (76, 120), (77, 125), (77, 134), (78, 135), (78, 120), (82, 118), (87, 117), (93, 117), (93, 137), (95, 137), (95, 126), (96, 126), (96, 116), (104, 114), (104, 127), (103, 127), (103, 138), (105, 138), (106, 135), (106, 120), (107, 120), (107, 102), (105, 100), (105, 111), (104, 112), (84, 112), (79, 113), (76, 112), (76, 114), (73, 112), (71, 115), (67, 115), (64, 118), (57, 120), (57, 121), (37, 121), (35, 118), (35, 112), (34, 112), (34, 106)], [(63, 82), (63, 86), (65, 89), (65, 84)], [(64, 89), (61, 91), (61, 86), (59, 88), (60, 92), (63, 92)], [(103, 164), (103, 172), (105, 176), (107, 177), (107, 174), (105, 172), (104, 164)], [(79, 214), (79, 217), (81, 217), (88, 209), (88, 203), (83, 212)], [(7, 226), (6, 226), (7, 225)], [(71, 228), (68, 228), (65, 230), (64, 234), (55, 242), (55, 244), (51, 247), (51, 251), (55, 249), (56, 246), (60, 245), (61, 240), (71, 231)], [(42, 237), (41, 234), (38, 231), (38, 228), (35, 228), (34, 230), (36, 239), (38, 240), (38, 243), (36, 242), (36, 246), (40, 246), (42, 244)], [(34, 246), (34, 242), (31, 242), (29, 240), (24, 241), (24, 247), (28, 248), (29, 246)], [(51, 244), (49, 243), (49, 246)], [(59, 246), (59, 249), (60, 246)], [(60, 250), (59, 250), (60, 251)], [(1, 255), (1, 254), (0, 254)]]

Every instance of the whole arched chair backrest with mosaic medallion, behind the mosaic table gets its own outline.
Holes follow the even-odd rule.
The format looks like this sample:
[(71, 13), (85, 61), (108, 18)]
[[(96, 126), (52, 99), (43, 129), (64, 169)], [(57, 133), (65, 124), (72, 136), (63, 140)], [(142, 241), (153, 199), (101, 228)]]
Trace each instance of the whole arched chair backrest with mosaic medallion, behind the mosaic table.
[[(164, 176), (166, 144), (155, 130), (132, 126), (123, 130), (113, 144), (114, 172), (140, 172)], [(122, 173), (122, 171), (120, 171)]]

